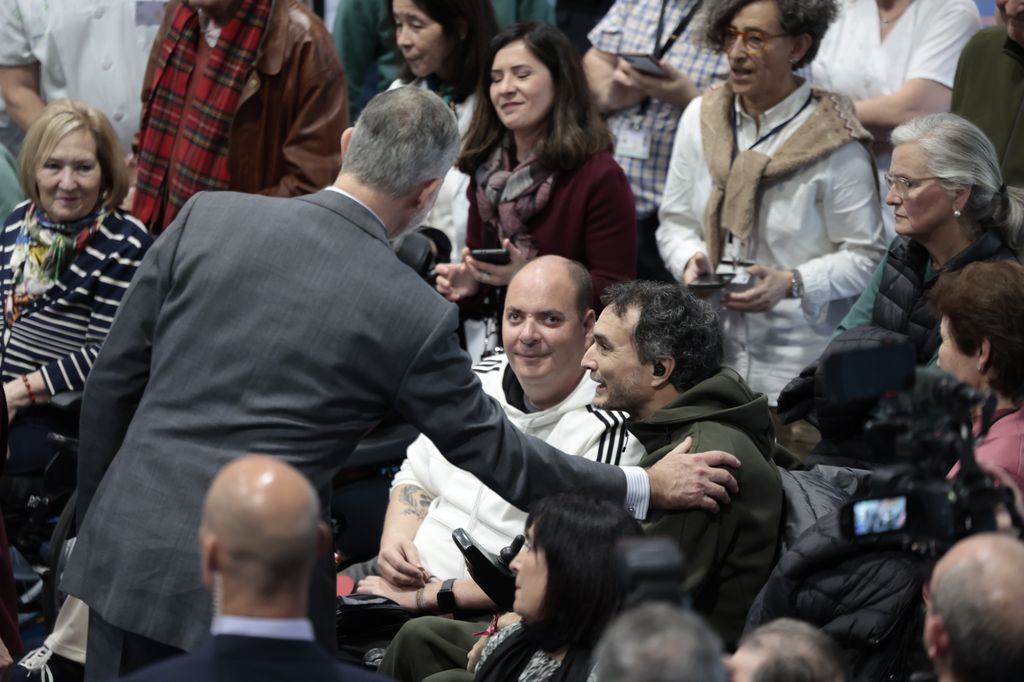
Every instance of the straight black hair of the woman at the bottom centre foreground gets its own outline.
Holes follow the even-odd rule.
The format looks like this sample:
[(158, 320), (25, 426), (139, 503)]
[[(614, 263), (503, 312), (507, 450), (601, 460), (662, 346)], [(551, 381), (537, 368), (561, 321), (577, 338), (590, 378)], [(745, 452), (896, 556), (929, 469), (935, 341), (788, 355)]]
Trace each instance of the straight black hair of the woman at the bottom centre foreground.
[(640, 524), (622, 505), (556, 495), (534, 506), (526, 527), (548, 565), (545, 624), (569, 646), (593, 648), (622, 604), (615, 543), (643, 535)]

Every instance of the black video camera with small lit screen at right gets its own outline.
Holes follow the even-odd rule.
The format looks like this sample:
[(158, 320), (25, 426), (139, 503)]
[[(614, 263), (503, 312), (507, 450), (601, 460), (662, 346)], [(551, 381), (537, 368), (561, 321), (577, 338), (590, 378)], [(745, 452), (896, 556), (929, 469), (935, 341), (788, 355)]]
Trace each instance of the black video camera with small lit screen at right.
[[(974, 456), (975, 443), (992, 424), (994, 395), (941, 370), (916, 368), (909, 344), (833, 355), (824, 373), (835, 402), (878, 398), (877, 417), (868, 421), (864, 437), (884, 461), (892, 462), (872, 473), (871, 497), (843, 507), (845, 537), (891, 539), (936, 558), (962, 538), (995, 530), (1000, 505), (1018, 530), (1024, 530), (1013, 493), (997, 486)], [(981, 428), (975, 436), (979, 407)], [(956, 462), (961, 469), (947, 480)]]

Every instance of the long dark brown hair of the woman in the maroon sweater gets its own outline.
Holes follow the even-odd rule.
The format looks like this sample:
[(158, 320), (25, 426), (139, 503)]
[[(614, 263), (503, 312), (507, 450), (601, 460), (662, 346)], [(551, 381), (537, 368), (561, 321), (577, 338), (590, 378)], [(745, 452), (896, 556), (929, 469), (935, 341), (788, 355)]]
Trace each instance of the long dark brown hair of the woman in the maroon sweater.
[(456, 163), (470, 177), (508, 134), (490, 103), (490, 67), (499, 50), (519, 40), (551, 72), (555, 92), (544, 133), (534, 148), (541, 165), (552, 171), (574, 171), (598, 152), (612, 150), (611, 133), (597, 111), (580, 53), (569, 39), (550, 24), (513, 24), (490, 41), (476, 86), (476, 109)]

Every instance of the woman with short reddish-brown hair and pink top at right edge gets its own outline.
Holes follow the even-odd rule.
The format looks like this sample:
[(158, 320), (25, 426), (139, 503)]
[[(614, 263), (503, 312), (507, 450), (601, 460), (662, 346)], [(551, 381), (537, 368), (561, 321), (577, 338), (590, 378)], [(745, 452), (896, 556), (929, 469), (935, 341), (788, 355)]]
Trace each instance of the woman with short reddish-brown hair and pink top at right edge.
[[(1012, 260), (971, 263), (940, 276), (931, 300), (941, 317), (939, 367), (998, 399), (995, 421), (975, 457), (1005, 470), (1024, 489), (1024, 266)], [(950, 475), (958, 470), (959, 464)]]

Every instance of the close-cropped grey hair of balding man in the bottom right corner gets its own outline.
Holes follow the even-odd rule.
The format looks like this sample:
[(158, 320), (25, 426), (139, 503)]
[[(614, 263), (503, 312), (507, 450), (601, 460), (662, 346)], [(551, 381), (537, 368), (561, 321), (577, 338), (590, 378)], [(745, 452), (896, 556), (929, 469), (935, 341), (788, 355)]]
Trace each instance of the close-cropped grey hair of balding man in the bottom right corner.
[(961, 682), (1019, 682), (1024, 674), (1022, 568), (1024, 550), (1007, 544), (998, 555), (963, 561), (932, 581), (932, 611), (949, 636), (949, 664)]

